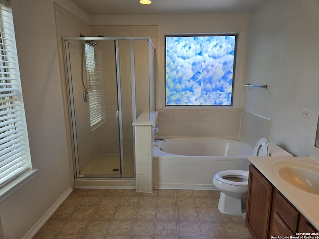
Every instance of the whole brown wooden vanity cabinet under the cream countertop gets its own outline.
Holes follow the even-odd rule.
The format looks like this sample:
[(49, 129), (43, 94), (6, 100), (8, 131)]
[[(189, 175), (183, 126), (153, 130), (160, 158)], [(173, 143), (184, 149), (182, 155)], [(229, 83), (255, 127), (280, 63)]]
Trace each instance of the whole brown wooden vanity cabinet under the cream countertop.
[(246, 226), (253, 239), (318, 232), (253, 165), (249, 166)]

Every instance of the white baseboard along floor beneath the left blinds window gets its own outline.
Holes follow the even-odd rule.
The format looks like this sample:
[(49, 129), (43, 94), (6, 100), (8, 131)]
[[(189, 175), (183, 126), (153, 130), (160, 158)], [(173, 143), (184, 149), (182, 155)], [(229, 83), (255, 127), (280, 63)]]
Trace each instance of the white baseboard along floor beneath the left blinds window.
[(69, 187), (22, 239), (32, 239), (72, 191), (72, 187)]

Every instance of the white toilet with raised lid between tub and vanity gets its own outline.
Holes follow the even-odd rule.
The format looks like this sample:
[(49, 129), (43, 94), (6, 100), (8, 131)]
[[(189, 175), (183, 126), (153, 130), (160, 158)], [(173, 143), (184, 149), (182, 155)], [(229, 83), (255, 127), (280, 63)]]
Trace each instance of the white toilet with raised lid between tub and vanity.
[[(258, 140), (253, 156), (293, 156), (266, 138)], [(267, 160), (267, 159), (265, 159)], [(226, 170), (217, 173), (213, 184), (220, 190), (218, 210), (223, 214), (245, 216), (248, 188), (248, 171)]]

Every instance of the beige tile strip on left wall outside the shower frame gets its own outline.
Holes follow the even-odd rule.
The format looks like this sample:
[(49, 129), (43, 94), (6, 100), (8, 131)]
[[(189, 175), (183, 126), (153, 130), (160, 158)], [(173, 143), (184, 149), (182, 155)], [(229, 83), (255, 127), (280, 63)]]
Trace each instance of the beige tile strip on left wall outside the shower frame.
[[(66, 134), (68, 137), (68, 152), (69, 152), (69, 165), (70, 165), (70, 180), (74, 180), (73, 176), (73, 158), (72, 158), (72, 145), (71, 145), (71, 126), (69, 119), (69, 103), (67, 97), (67, 84), (64, 73), (64, 60), (63, 60), (63, 48), (62, 48), (62, 37), (63, 36), (79, 36), (80, 33), (83, 35), (90, 35), (90, 25), (79, 19), (69, 11), (65, 10), (60, 5), (54, 3), (55, 10), (55, 22), (58, 42), (58, 52), (60, 61), (60, 72), (62, 81), (62, 92), (63, 92), (63, 103), (64, 103), (64, 116), (66, 121)], [(79, 51), (80, 52), (80, 51)], [(79, 56), (80, 57), (80, 56)], [(80, 70), (78, 71), (80, 72)], [(82, 98), (81, 98), (82, 99)], [(83, 101), (83, 100), (82, 100)]]

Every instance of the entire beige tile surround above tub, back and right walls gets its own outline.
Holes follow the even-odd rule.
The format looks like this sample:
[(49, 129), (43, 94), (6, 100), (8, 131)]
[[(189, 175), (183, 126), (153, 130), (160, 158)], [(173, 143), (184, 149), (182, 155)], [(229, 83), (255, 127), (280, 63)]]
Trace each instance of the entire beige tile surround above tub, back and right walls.
[(270, 119), (242, 108), (162, 108), (158, 116), (160, 136), (240, 138), (252, 148), (269, 139), (270, 126)]

